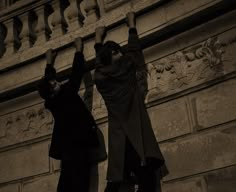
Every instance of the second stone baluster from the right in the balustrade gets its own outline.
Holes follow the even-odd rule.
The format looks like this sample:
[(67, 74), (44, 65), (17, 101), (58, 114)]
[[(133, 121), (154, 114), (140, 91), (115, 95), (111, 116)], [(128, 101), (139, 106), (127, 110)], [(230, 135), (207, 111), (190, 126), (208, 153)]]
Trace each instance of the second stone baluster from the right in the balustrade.
[(69, 0), (70, 6), (65, 10), (65, 16), (68, 23), (68, 31), (75, 31), (82, 27), (83, 16), (79, 8), (78, 0)]

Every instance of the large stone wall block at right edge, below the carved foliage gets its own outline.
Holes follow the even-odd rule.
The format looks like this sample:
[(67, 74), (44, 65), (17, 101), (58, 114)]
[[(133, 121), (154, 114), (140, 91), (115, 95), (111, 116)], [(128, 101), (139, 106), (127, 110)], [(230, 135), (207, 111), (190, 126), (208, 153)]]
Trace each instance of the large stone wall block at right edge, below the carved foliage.
[(196, 127), (208, 128), (236, 119), (236, 79), (228, 80), (191, 96)]

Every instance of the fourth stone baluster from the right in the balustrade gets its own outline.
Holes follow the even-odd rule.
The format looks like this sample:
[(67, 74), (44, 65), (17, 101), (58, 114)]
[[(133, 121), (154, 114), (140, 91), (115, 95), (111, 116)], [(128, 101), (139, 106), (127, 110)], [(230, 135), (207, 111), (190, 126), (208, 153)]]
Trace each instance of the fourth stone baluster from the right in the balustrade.
[(35, 13), (38, 17), (37, 25), (35, 28), (37, 40), (35, 45), (43, 44), (49, 39), (51, 30), (48, 25), (49, 10), (46, 6), (40, 6), (35, 9)]

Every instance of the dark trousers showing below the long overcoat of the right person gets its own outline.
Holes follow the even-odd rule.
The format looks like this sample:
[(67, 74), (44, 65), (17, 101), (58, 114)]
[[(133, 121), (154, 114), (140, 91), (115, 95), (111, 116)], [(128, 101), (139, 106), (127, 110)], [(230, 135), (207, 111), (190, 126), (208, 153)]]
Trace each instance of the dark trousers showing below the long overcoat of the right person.
[[(124, 181), (108, 182), (105, 192), (134, 192), (134, 185), (138, 185), (138, 192), (160, 192), (160, 177), (153, 166), (151, 159), (147, 159), (147, 165), (141, 166), (140, 158), (132, 144), (126, 139)], [(124, 182), (129, 187), (121, 190)], [(131, 187), (130, 187), (131, 186)]]

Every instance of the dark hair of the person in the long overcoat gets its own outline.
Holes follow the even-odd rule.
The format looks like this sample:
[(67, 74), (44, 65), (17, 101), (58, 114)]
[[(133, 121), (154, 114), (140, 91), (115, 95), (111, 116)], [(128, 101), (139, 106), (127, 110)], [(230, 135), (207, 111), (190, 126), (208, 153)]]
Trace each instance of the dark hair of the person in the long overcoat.
[(121, 46), (118, 43), (114, 41), (107, 41), (104, 43), (102, 49), (98, 52), (99, 62), (101, 62), (103, 65), (111, 64), (112, 51), (120, 51), (122, 54), (124, 54)]

